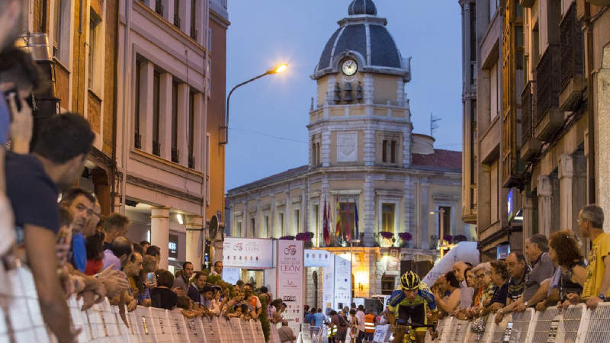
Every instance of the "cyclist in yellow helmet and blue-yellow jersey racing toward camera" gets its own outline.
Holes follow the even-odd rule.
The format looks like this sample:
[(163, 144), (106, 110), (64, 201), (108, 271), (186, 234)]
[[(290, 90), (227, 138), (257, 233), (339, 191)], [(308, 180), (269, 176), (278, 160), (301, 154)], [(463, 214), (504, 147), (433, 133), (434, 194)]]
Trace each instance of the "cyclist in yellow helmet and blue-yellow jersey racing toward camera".
[(400, 277), (400, 286), (392, 292), (388, 309), (388, 320), (392, 325), (394, 342), (397, 343), (403, 343), (409, 319), (415, 327), (411, 328), (415, 330), (415, 341), (424, 342), (426, 328), (417, 328), (417, 325), (427, 325), (428, 314), (431, 315), (430, 322), (436, 323), (439, 313), (434, 295), (414, 272), (406, 272)]

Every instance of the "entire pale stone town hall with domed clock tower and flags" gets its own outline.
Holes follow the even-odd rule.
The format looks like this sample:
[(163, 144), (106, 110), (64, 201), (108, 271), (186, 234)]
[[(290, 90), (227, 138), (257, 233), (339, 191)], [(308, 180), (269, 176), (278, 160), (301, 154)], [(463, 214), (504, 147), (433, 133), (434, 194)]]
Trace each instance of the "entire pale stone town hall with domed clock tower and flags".
[[(461, 220), (461, 152), (435, 149), (434, 138), (413, 132), (411, 116), (423, 114), (412, 114), (406, 97), (411, 59), (387, 20), (373, 1), (354, 0), (338, 23), (311, 76), (309, 162), (229, 190), (227, 234), (301, 234), (312, 237), (306, 245), (347, 258), (352, 245), (353, 296), (368, 298), (391, 292), (402, 269), (425, 275), (454, 237), (476, 237)], [(390, 251), (400, 251), (398, 266), (384, 258)], [(322, 306), (321, 273), (307, 268), (308, 305)], [(246, 278), (265, 282), (262, 273)]]

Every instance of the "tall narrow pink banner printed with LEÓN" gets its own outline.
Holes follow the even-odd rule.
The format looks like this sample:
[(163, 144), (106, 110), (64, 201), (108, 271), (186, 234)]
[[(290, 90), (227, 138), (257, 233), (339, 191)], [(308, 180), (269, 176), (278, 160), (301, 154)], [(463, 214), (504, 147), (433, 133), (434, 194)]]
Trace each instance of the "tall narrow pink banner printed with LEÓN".
[(303, 242), (278, 240), (278, 298), (286, 304), (284, 319), (292, 331), (301, 331), (304, 291)]

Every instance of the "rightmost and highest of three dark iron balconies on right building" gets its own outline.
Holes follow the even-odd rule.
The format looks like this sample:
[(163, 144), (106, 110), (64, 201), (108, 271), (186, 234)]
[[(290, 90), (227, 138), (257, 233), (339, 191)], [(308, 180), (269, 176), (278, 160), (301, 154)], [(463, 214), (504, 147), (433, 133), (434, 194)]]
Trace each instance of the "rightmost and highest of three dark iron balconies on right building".
[(573, 111), (578, 106), (586, 82), (584, 80), (583, 31), (576, 18), (576, 4), (572, 4), (559, 24), (559, 70), (561, 93), (559, 107)]

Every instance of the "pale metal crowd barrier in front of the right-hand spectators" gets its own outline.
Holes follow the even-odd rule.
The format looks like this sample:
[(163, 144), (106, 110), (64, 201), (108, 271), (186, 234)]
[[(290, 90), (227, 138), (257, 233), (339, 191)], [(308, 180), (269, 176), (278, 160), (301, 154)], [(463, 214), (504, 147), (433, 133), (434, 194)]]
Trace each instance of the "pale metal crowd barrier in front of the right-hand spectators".
[(474, 333), (471, 325), (465, 320), (445, 317), (437, 327), (439, 339), (432, 341), (428, 334), (426, 342), (606, 343), (610, 342), (610, 303), (601, 303), (593, 311), (584, 304), (564, 311), (554, 306), (543, 312), (529, 308), (504, 316), (498, 324), (490, 315), (482, 333)]

